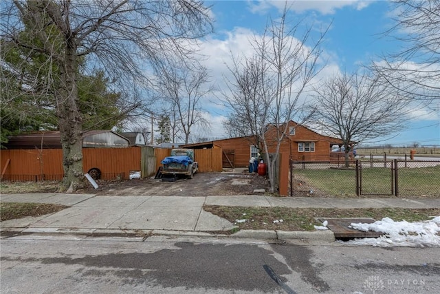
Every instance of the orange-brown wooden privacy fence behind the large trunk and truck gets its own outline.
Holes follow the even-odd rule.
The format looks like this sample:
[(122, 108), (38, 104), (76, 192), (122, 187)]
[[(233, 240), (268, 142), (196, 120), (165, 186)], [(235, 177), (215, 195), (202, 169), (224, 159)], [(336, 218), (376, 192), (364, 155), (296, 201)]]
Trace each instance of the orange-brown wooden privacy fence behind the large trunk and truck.
[[(84, 148), (83, 171), (99, 169), (102, 180), (129, 179), (131, 171), (141, 171), (145, 178), (155, 174), (170, 152), (153, 147)], [(199, 171), (221, 171), (221, 154), (221, 149), (196, 149)], [(3, 149), (0, 162), (2, 180), (61, 180), (64, 175), (62, 149)]]

